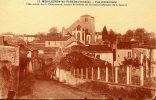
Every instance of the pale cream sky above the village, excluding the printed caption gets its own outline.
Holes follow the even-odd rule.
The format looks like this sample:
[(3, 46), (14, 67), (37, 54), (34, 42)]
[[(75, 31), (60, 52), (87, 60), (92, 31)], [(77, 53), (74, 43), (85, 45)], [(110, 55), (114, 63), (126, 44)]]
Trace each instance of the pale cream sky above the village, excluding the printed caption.
[(156, 0), (116, 0), (126, 3), (124, 7), (26, 5), (36, 1), (0, 0), (0, 34), (47, 33), (51, 27), (61, 30), (84, 14), (95, 17), (96, 31), (106, 26), (108, 30), (113, 29), (121, 34), (136, 28), (156, 33)]

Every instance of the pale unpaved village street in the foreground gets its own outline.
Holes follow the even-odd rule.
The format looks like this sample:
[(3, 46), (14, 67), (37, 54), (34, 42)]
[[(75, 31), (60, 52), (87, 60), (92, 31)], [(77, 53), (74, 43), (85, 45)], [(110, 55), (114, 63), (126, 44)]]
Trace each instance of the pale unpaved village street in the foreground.
[[(29, 97), (28, 97), (29, 98)], [(36, 80), (30, 98), (49, 99), (105, 99), (104, 95), (87, 93), (56, 81)]]

